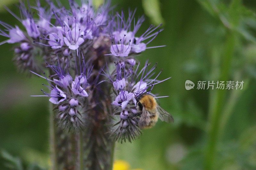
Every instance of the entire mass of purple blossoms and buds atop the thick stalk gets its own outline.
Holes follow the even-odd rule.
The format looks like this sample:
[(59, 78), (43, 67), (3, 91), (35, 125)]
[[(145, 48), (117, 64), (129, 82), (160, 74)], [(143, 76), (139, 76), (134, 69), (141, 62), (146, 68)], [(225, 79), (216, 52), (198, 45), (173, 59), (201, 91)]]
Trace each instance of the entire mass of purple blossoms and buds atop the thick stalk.
[[(155, 96), (151, 90), (162, 82), (156, 80), (159, 74), (152, 78), (156, 66), (148, 69), (147, 61), (140, 70), (133, 56), (163, 47), (148, 46), (163, 30), (161, 25), (150, 25), (138, 35), (144, 17), (136, 21), (135, 11), (129, 11), (128, 17), (123, 11), (110, 15), (110, 1), (98, 8), (92, 0), (81, 0), (80, 5), (69, 0), (69, 8), (59, 1), (45, 2), (46, 7), (39, 0), (34, 6), (20, 2), (20, 17), (6, 8), (24, 29), (0, 21), (4, 28), (0, 35), (8, 38), (0, 45), (15, 43), (18, 67), (49, 82), (50, 92), (42, 89), (42, 96), (50, 97), (62, 126), (83, 127), (90, 120), (109, 122), (116, 112), (116, 140), (131, 141), (140, 134), (136, 98), (145, 92)], [(46, 70), (49, 77), (41, 76)], [(114, 96), (112, 101), (110, 96)], [(112, 104), (112, 113), (106, 111), (107, 103)]]

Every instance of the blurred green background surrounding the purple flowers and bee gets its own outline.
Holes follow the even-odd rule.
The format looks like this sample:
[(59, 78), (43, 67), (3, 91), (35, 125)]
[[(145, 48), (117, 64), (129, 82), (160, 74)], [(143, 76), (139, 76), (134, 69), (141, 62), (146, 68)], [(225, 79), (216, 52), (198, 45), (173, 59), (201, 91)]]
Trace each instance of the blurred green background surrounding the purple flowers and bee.
[[(20, 25), (3, 8), (7, 5), (19, 14), (16, 3), (0, 0), (0, 20)], [(116, 143), (116, 169), (256, 169), (256, 1), (112, 0), (112, 4), (117, 11), (137, 8), (136, 18), (145, 13), (140, 33), (151, 23), (164, 23), (164, 31), (150, 45), (166, 47), (148, 49), (137, 59), (158, 63), (156, 71), (163, 69), (159, 79), (172, 77), (155, 86), (153, 93), (170, 96), (159, 99), (159, 104), (175, 120), (157, 122), (131, 144)], [(19, 73), (13, 54), (13, 46), (0, 46), (0, 169), (6, 169), (8, 162), (47, 169), (48, 99), (30, 97), (40, 94), (43, 80)], [(197, 90), (195, 85), (187, 91), (186, 80), (195, 84), (238, 80), (244, 86)]]

